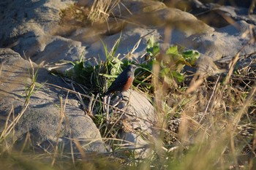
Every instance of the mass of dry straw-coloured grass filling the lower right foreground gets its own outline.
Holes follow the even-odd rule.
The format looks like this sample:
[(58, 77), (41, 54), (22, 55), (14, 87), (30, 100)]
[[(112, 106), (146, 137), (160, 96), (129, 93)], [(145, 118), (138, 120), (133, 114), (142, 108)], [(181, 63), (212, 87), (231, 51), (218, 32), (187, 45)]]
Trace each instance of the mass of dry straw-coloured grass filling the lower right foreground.
[[(190, 87), (195, 89), (190, 93), (186, 93), (189, 83), (166, 82), (165, 77), (157, 77), (160, 71), (155, 62), (151, 76), (145, 79), (154, 89), (154, 93), (146, 92), (154, 98), (159, 117), (155, 128), (161, 142), (154, 143), (143, 160), (136, 159), (118, 139), (118, 131), (124, 130), (121, 116), (129, 113), (108, 106), (113, 115), (101, 115), (99, 108), (107, 104), (98, 97), (81, 95), (89, 98), (89, 112), (97, 113), (94, 121), (115, 150), (112, 155), (121, 156), (119, 161), (130, 169), (255, 169), (255, 69), (246, 66), (236, 69), (240, 74), (204, 77), (197, 88)], [(138, 88), (145, 89), (143, 84)]]

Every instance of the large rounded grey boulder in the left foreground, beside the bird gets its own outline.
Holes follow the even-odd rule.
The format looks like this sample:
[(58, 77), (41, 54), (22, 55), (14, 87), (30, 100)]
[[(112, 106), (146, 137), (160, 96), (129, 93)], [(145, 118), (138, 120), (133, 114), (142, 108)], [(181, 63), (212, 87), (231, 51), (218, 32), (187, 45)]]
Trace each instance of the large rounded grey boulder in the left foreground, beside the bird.
[(56, 144), (61, 144), (64, 152), (70, 152), (71, 147), (74, 153), (79, 153), (79, 147), (86, 152), (106, 151), (94, 122), (81, 109), (72, 105), (75, 104), (72, 99), (74, 96), (51, 86), (66, 87), (59, 77), (50, 75), (34, 63), (37, 80), (26, 107), (26, 98), (33, 85), (31, 64), (10, 49), (0, 49), (0, 61), (0, 131), (4, 130), (5, 123), (11, 125), (13, 116), (20, 117), (15, 121), (15, 129), (4, 133), (4, 139), (9, 144), (15, 142), (23, 145), (29, 135), (33, 147), (48, 152), (53, 151)]

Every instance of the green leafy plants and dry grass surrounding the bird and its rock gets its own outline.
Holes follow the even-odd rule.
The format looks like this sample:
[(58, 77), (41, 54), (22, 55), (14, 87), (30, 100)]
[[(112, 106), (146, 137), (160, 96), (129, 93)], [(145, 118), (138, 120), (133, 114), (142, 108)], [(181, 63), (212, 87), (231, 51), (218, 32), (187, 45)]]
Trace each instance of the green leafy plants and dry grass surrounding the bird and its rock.
[[(94, 19), (101, 16), (95, 15), (90, 12)], [(83, 98), (86, 103), (95, 101), (86, 112), (94, 119), (106, 144), (116, 152), (124, 151), (116, 147), (121, 123), (117, 117), (109, 120), (103, 114), (102, 94), (122, 69), (135, 63), (118, 59), (119, 41), (110, 51), (104, 45), (106, 61), (91, 66), (81, 56), (80, 61), (72, 63), (74, 69), (65, 75), (91, 96)], [(231, 74), (199, 78), (195, 82), (200, 85), (187, 93), (197, 83), (192, 83), (195, 73), (187, 72), (184, 67), (192, 69), (200, 53), (178, 45), (160, 53), (153, 36), (148, 39), (146, 53), (145, 62), (135, 63), (141, 69), (135, 73), (132, 88), (151, 98), (159, 117), (155, 127), (160, 132), (159, 141), (151, 145), (147, 158), (137, 158), (134, 150), (126, 150), (123, 155), (88, 154), (75, 160), (59, 153), (58, 147), (54, 153), (6, 150), (4, 142), (9, 130), (3, 131), (0, 138), (0, 169), (255, 169), (255, 69), (238, 66), (233, 60)], [(35, 82), (33, 74), (25, 106), (29, 104)], [(10, 125), (10, 129), (13, 127)]]

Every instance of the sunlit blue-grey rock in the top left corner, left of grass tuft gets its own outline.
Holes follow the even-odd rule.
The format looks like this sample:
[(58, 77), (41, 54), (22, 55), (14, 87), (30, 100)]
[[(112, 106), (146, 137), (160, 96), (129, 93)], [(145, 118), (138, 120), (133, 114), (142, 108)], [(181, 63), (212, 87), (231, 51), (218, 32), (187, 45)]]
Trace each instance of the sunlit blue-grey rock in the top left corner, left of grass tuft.
[[(51, 32), (59, 25), (59, 12), (73, 1), (2, 1), (0, 47), (12, 47), (23, 57), (30, 57), (37, 63), (51, 63), (65, 58), (79, 59), (85, 47)], [(56, 52), (58, 51), (58, 52)], [(62, 51), (62, 53), (60, 53)], [(53, 53), (55, 52), (55, 53)], [(74, 58), (75, 56), (75, 58)]]

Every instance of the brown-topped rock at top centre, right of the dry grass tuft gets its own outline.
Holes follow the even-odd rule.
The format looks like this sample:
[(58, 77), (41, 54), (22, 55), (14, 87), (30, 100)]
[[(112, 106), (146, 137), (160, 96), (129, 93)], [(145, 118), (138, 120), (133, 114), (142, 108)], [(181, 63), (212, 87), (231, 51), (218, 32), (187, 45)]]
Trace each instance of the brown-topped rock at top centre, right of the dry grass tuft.
[[(153, 5), (154, 4), (154, 5)], [(86, 59), (94, 64), (94, 60), (91, 58), (98, 58), (105, 61), (106, 55), (102, 42), (108, 47), (110, 51), (116, 44), (118, 39), (118, 47), (116, 49), (116, 55), (119, 58), (128, 58), (135, 61), (143, 62), (143, 58), (140, 58), (146, 53), (147, 41), (150, 36), (154, 36), (156, 42), (164, 42), (165, 39), (170, 43), (184, 42), (188, 36), (192, 34), (202, 34), (214, 31), (211, 28), (197, 20), (193, 15), (188, 12), (182, 12), (179, 9), (167, 8), (165, 4), (157, 1), (124, 1), (124, 4), (113, 9), (113, 16), (127, 20), (127, 24), (123, 26), (121, 32), (116, 34), (110, 34), (108, 36), (100, 36), (100, 39), (96, 36), (102, 33), (99, 28), (94, 28), (99, 31), (98, 35), (92, 29), (78, 29), (75, 36), (68, 36), (69, 39), (78, 40), (78, 37), (86, 37), (85, 39), (79, 39), (79, 41), (85, 42)], [(116, 21), (118, 22), (118, 21)], [(188, 27), (187, 25), (190, 25)], [(111, 23), (109, 24), (111, 26)], [(105, 24), (101, 27), (109, 28)], [(165, 37), (165, 27), (170, 28), (170, 36)], [(86, 36), (85, 36), (86, 35)], [(88, 35), (91, 35), (88, 36)], [(164, 39), (165, 38), (165, 39)], [(138, 47), (136, 48), (136, 44)]]

